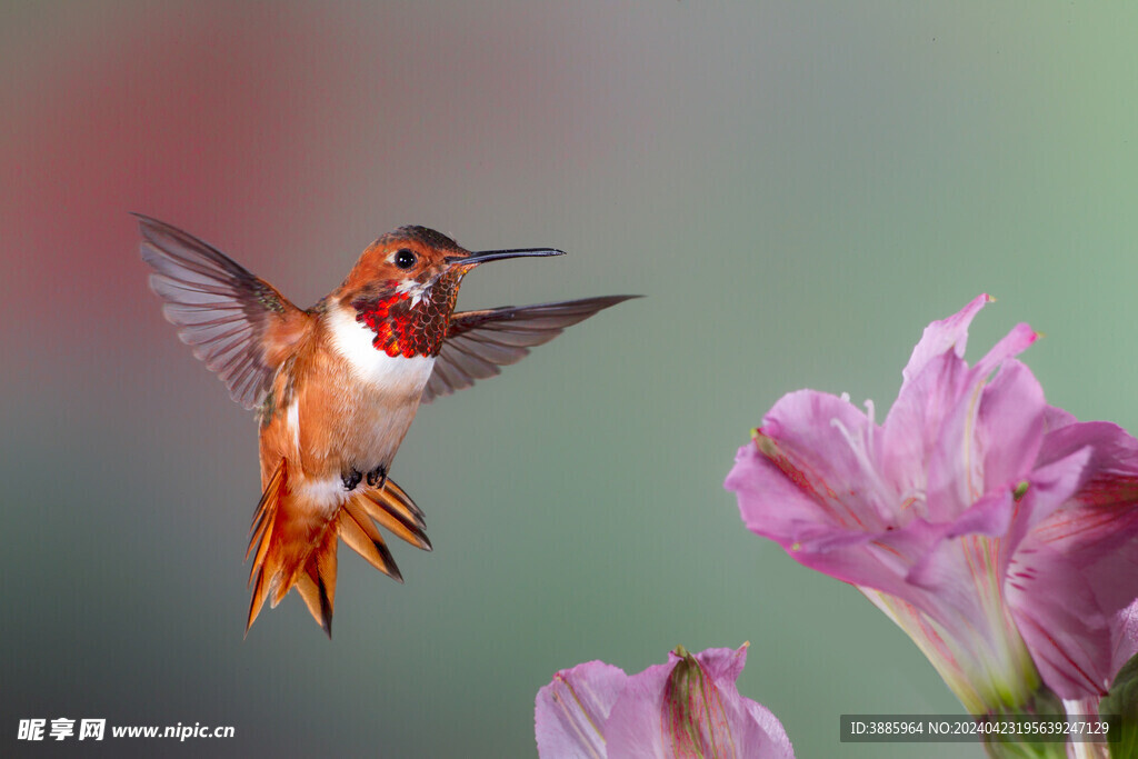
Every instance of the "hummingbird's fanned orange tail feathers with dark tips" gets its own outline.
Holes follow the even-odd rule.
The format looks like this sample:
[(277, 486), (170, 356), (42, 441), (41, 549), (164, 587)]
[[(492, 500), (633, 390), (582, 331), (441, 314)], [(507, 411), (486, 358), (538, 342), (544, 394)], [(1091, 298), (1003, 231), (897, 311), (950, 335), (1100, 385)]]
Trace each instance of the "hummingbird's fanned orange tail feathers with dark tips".
[(390, 479), (380, 488), (363, 486), (346, 493), (331, 517), (329, 512), (327, 504), (308, 503), (294, 492), (288, 463), (281, 459), (269, 478), (249, 529), (245, 558), (253, 556), (249, 570), (253, 595), (246, 635), (266, 600), (275, 608), (296, 587), (313, 619), (332, 636), (338, 538), (399, 583), (403, 576), (377, 522), (411, 545), (431, 550), (422, 511)]

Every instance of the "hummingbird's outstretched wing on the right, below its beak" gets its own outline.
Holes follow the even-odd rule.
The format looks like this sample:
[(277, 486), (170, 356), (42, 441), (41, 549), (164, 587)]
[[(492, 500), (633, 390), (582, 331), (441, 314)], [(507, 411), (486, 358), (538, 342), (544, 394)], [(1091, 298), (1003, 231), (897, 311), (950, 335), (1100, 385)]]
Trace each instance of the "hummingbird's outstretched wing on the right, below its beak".
[(468, 388), (476, 380), (494, 377), (500, 366), (516, 364), (535, 345), (549, 343), (566, 327), (588, 319), (602, 308), (637, 298), (609, 295), (582, 300), (543, 303), (464, 311), (451, 316), (443, 349), (423, 389), (422, 403)]

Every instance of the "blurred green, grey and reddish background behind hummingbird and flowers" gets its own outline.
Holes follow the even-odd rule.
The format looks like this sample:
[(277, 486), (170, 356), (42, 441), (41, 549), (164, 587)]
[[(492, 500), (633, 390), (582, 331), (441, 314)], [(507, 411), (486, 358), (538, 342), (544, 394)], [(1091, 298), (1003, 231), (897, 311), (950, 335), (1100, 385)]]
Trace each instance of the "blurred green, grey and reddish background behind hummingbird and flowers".
[[(873, 398), (998, 298), (1052, 403), (1138, 428), (1138, 9), (1092, 3), (16, 2), (0, 9), (0, 749), (19, 718), (233, 725), (67, 756), (535, 756), (560, 668), (751, 642), (800, 757), (954, 712), (853, 588), (723, 479), (777, 398)], [(384, 231), (571, 255), (460, 307), (638, 292), (424, 407), (394, 468), (435, 552), (340, 552), (335, 640), (241, 633), (256, 430), (165, 323), (129, 211), (306, 306)], [(34, 746), (43, 753), (49, 746)]]

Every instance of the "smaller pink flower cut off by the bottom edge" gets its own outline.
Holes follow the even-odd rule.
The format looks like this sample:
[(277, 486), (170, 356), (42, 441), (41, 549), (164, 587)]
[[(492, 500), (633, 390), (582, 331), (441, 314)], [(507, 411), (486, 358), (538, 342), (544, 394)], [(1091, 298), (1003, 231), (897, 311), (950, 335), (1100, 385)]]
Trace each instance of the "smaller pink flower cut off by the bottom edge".
[(542, 759), (793, 758), (782, 725), (744, 699), (735, 680), (747, 661), (737, 651), (678, 647), (668, 663), (629, 677), (603, 661), (562, 669), (537, 692)]

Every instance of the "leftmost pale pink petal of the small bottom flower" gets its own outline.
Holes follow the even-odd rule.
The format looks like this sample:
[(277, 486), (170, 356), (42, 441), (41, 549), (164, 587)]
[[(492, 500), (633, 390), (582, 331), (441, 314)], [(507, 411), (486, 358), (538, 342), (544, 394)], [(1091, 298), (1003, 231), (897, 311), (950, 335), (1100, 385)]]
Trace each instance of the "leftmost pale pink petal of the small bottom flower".
[(545, 759), (607, 757), (604, 723), (628, 676), (603, 661), (562, 669), (537, 692), (537, 753)]

